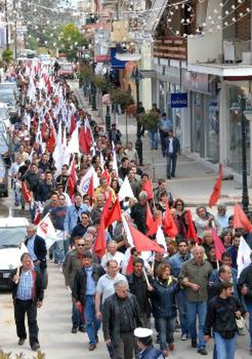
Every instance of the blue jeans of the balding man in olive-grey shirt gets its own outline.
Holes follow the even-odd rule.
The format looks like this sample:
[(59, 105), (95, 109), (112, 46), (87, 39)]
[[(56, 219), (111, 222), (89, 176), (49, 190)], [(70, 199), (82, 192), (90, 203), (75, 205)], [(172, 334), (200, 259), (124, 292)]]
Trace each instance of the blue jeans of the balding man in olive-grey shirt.
[(192, 340), (197, 340), (196, 322), (197, 316), (199, 321), (199, 340), (198, 349), (205, 348), (206, 342), (204, 340), (204, 324), (207, 314), (207, 302), (206, 301), (187, 301), (186, 303), (186, 315), (188, 330)]

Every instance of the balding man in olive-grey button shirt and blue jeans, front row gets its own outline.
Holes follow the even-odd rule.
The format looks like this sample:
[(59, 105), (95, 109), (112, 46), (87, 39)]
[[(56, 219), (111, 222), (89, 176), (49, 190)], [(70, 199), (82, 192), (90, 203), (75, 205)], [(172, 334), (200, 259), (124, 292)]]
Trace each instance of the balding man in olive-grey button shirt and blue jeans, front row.
[[(204, 340), (204, 323), (207, 313), (208, 283), (213, 272), (211, 264), (204, 259), (205, 250), (201, 245), (193, 249), (193, 258), (182, 264), (178, 275), (179, 284), (185, 287), (187, 299), (186, 314), (192, 347), (198, 353), (207, 355)], [(199, 342), (197, 344), (197, 317), (199, 321)]]

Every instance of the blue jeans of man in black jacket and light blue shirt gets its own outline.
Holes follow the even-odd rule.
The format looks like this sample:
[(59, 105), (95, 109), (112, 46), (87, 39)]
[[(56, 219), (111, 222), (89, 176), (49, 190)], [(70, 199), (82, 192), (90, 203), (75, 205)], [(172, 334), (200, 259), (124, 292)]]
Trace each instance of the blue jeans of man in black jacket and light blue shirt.
[(84, 309), (86, 330), (89, 337), (89, 344), (96, 344), (96, 336), (100, 329), (101, 322), (95, 315), (95, 297), (94, 295), (86, 295), (86, 303)]

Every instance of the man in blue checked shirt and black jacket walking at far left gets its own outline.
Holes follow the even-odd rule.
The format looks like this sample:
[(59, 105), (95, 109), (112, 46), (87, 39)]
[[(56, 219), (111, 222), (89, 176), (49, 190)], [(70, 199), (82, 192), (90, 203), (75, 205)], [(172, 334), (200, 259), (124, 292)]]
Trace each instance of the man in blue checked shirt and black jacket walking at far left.
[(40, 347), (37, 307), (41, 307), (44, 297), (42, 278), (39, 270), (33, 268), (30, 253), (23, 253), (21, 262), (22, 267), (15, 270), (11, 277), (18, 344), (23, 345), (27, 338), (25, 329), (25, 314), (27, 314), (30, 346), (32, 350), (37, 350)]

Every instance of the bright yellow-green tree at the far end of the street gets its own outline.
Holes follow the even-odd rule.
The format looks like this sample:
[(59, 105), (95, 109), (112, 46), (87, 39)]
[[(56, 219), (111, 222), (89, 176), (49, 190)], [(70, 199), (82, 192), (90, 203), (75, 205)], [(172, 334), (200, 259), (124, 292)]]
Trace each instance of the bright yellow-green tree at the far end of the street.
[(64, 26), (60, 33), (59, 47), (64, 51), (68, 60), (74, 60), (77, 56), (78, 48), (87, 45), (88, 41), (73, 23)]

